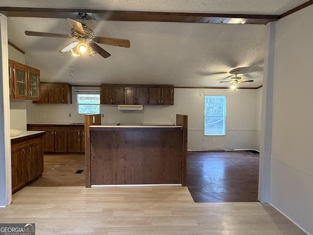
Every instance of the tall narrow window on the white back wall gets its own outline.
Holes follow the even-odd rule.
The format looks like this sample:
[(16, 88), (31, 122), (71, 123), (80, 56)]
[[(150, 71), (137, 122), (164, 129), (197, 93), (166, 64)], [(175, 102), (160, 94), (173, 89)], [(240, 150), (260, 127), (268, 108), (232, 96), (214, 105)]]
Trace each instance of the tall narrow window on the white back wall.
[(204, 97), (204, 135), (224, 136), (226, 96)]

